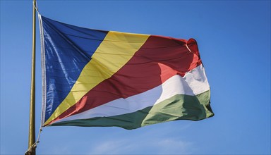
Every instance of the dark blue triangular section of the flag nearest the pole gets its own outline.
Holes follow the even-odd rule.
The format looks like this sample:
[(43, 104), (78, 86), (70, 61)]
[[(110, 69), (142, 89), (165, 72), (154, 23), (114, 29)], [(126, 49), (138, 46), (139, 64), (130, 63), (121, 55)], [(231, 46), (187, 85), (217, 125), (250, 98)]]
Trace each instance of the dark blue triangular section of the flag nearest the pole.
[(45, 121), (66, 98), (108, 31), (76, 27), (42, 16), (44, 29)]

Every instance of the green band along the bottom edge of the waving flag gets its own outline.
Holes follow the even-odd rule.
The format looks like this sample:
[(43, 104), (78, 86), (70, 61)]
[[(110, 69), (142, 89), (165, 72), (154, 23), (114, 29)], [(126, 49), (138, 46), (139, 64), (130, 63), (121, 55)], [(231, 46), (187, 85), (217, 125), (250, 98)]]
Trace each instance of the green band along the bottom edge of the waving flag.
[(111, 117), (68, 120), (53, 123), (51, 126), (117, 126), (125, 129), (135, 129), (171, 120), (202, 120), (212, 116), (214, 116), (214, 113), (212, 113), (210, 107), (210, 90), (208, 90), (196, 96), (177, 94), (159, 104), (155, 104), (155, 106), (150, 106), (134, 113)]

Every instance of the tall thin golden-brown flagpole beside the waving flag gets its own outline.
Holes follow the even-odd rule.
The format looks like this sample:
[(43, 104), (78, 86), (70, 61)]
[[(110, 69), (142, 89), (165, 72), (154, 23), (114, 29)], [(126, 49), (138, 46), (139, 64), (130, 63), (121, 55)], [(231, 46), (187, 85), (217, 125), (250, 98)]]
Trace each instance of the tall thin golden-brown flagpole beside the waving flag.
[(28, 154), (35, 155), (35, 61), (36, 61), (36, 0), (33, 0), (32, 13), (32, 68), (31, 68), (31, 90), (30, 90), (30, 118), (28, 135)]

